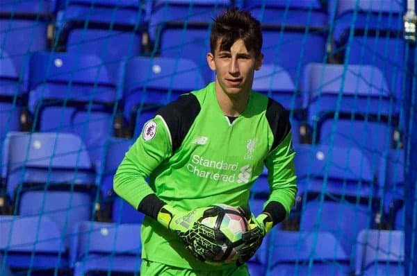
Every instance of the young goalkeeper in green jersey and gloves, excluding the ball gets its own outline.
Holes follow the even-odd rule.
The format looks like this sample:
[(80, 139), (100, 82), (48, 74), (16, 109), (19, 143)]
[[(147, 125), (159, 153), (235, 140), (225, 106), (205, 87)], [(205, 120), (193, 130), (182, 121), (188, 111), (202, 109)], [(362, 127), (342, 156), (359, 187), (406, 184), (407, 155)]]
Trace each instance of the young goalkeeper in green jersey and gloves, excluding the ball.
[[(294, 204), (288, 112), (252, 91), (263, 62), (259, 21), (244, 10), (223, 12), (210, 46), (215, 82), (158, 110), (115, 174), (115, 192), (146, 215), (141, 275), (249, 275), (245, 262)], [(270, 196), (261, 214), (250, 214), (240, 259), (207, 264), (219, 248), (214, 236), (201, 234), (198, 219), (216, 203), (247, 208), (263, 166)]]

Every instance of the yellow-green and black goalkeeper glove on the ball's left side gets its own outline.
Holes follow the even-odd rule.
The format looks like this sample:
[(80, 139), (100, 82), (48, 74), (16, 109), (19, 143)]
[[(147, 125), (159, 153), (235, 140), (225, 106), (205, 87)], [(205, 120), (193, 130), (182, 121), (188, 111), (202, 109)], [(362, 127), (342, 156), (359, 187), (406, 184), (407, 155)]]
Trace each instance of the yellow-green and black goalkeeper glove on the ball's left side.
[(222, 250), (218, 241), (226, 237), (222, 232), (202, 225), (202, 218), (217, 216), (220, 207), (200, 207), (190, 212), (181, 212), (170, 205), (164, 205), (157, 221), (172, 230), (186, 245), (186, 250), (199, 261), (211, 261)]

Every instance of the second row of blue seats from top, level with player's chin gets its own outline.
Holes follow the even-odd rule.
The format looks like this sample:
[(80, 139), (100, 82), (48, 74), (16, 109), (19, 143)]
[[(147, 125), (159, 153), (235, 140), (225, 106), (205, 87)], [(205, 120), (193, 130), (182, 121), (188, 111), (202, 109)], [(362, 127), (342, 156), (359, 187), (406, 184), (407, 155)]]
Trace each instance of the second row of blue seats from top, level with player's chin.
[[(8, 108), (1, 112), (8, 126), (2, 134), (19, 129), (19, 117), (32, 122), (32, 130), (74, 132), (88, 146), (120, 135), (113, 132), (120, 117), (129, 135), (137, 137), (159, 106), (205, 85), (197, 65), (186, 59), (132, 58), (119, 64), (113, 76), (95, 55), (38, 52), (31, 55), (24, 92), (9, 61), (0, 60), (6, 71), (0, 76), (2, 94), (9, 96), (3, 103)], [(288, 71), (264, 64), (253, 85), (291, 110), (295, 141), (308, 141), (305, 126), (311, 126), (316, 143), (363, 146), (368, 142), (365, 134), (372, 133), (385, 139), (375, 138), (367, 150), (391, 148), (394, 132), (399, 131), (395, 105), (400, 98), (389, 89), (382, 71), (368, 65), (311, 63), (303, 67), (301, 79), (297, 86)], [(26, 117), (20, 116), (22, 110)]]

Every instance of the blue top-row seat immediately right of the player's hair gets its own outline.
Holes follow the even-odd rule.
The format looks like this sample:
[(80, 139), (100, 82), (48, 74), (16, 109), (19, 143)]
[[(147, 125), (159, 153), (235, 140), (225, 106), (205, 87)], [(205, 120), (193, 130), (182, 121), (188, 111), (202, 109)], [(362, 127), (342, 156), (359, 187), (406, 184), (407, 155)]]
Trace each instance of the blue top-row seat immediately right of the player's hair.
[(328, 15), (322, 1), (242, 1), (261, 21), (265, 64), (279, 64), (291, 78), (300, 78), (308, 62), (323, 62)]

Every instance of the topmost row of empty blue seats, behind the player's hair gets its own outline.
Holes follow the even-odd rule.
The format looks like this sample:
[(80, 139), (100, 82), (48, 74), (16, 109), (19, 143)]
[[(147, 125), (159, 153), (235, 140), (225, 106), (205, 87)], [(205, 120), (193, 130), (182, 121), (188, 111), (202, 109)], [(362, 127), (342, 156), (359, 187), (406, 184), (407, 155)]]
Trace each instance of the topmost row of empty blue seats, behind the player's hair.
[[(150, 54), (189, 58), (204, 71), (205, 80), (210, 80), (205, 55), (209, 49), (211, 19), (224, 8), (238, 6), (250, 10), (263, 24), (265, 63), (279, 64), (295, 80), (304, 64), (341, 55), (339, 62), (377, 65), (384, 71), (390, 89), (400, 89), (404, 69), (401, 35), (404, 12), (394, 0), (358, 5), (355, 1), (334, 0), (31, 2), (33, 7), (30, 4), (4, 7), (10, 19), (2, 21), (1, 31), (6, 34), (2, 37), (6, 42), (3, 50), (17, 58), (19, 71), (28, 52), (47, 49), (46, 34), (51, 24), (54, 28), (50, 29), (56, 30), (49, 31), (51, 49), (99, 55), (111, 74), (124, 58)], [(19, 17), (31, 14), (31, 10), (32, 17)], [(381, 20), (386, 23), (379, 24)], [(24, 24), (27, 28), (22, 28)], [(350, 35), (352, 24), (355, 28)], [(334, 30), (332, 34), (330, 30)], [(17, 43), (18, 40), (26, 42)], [(331, 51), (327, 50), (328, 44), (334, 45)], [(354, 51), (347, 51), (350, 48)]]

